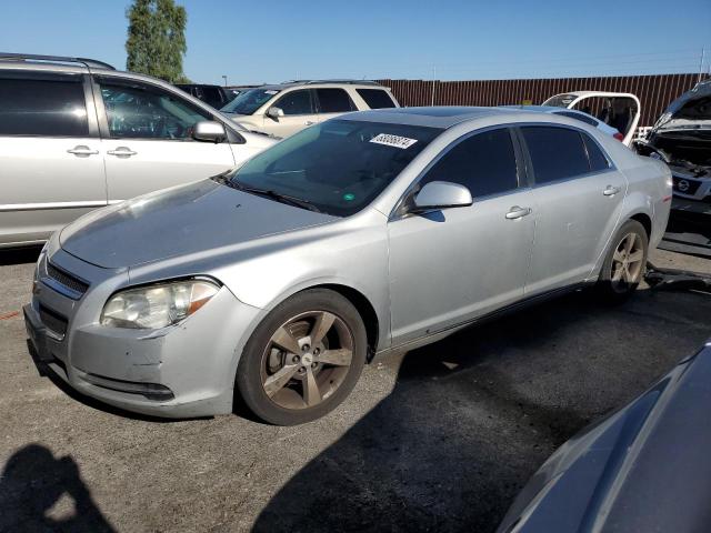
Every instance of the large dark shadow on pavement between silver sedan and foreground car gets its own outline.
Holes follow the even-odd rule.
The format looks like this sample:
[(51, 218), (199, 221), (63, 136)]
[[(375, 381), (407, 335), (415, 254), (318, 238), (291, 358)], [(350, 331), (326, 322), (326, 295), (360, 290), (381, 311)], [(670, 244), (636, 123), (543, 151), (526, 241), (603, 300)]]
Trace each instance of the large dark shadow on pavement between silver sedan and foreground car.
[(493, 531), (553, 450), (704, 341), (709, 313), (689, 293), (572, 294), (412, 351), (254, 531)]

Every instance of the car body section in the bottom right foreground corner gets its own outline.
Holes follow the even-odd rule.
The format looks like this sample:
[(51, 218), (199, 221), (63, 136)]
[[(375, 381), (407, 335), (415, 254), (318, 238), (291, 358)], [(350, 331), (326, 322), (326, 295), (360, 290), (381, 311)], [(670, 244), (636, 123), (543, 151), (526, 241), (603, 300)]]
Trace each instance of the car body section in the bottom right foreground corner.
[(500, 529), (710, 531), (711, 344), (563, 444)]

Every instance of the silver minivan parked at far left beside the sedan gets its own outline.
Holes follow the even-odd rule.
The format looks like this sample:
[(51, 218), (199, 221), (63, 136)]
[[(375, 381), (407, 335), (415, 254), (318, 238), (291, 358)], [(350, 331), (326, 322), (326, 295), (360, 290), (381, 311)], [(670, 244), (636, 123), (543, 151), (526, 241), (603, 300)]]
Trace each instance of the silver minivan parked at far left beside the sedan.
[(223, 172), (273, 144), (163, 81), (0, 53), (0, 248), (96, 208)]

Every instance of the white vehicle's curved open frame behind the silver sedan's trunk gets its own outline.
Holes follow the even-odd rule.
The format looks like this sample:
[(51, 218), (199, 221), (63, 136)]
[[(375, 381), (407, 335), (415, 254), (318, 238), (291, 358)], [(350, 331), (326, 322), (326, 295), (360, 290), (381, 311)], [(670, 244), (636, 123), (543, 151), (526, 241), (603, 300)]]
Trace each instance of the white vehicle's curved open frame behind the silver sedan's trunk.
[(629, 92), (574, 91), (555, 94), (541, 105), (582, 111), (622, 133), (622, 143), (632, 144), (640, 122), (640, 99)]

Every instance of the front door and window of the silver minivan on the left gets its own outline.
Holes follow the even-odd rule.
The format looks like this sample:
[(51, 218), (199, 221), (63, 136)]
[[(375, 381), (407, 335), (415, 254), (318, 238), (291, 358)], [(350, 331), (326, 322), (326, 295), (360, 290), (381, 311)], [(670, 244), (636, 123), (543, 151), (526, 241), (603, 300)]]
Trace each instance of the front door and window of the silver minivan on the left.
[(110, 202), (197, 181), (234, 167), (230, 144), (192, 139), (192, 128), (214, 118), (159, 86), (96, 77)]

